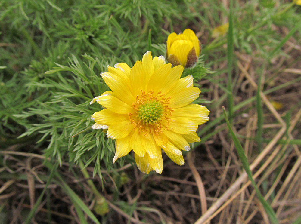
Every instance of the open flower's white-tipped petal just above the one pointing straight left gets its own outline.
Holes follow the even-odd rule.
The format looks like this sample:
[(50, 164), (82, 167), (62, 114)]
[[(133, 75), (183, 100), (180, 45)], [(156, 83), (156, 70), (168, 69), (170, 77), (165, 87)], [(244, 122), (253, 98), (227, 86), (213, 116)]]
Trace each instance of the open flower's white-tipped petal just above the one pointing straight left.
[(117, 114), (134, 113), (134, 109), (131, 106), (111, 95), (101, 95), (96, 99), (96, 102)]

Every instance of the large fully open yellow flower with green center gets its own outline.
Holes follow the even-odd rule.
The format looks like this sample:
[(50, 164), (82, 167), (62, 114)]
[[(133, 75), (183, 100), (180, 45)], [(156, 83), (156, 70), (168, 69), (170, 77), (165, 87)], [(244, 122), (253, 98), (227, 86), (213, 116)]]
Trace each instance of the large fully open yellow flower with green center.
[(106, 108), (92, 115), (92, 128), (107, 129), (107, 137), (116, 139), (113, 163), (133, 150), (141, 172), (162, 173), (162, 148), (176, 164), (184, 164), (181, 150), (200, 141), (195, 131), (209, 120), (209, 110), (190, 104), (200, 90), (192, 76), (180, 79), (182, 72), (182, 66), (171, 68), (163, 56), (153, 59), (148, 51), (132, 69), (117, 63), (101, 73), (112, 91), (90, 102)]

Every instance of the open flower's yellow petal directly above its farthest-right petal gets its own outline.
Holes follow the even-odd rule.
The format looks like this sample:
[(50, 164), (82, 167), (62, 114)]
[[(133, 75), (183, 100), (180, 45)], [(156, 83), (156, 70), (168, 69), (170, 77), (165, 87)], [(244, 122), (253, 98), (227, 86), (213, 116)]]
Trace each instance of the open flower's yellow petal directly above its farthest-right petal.
[(172, 109), (176, 109), (179, 107), (186, 106), (187, 104), (191, 103), (200, 95), (199, 88), (186, 88), (178, 91), (177, 93), (170, 95), (170, 107)]

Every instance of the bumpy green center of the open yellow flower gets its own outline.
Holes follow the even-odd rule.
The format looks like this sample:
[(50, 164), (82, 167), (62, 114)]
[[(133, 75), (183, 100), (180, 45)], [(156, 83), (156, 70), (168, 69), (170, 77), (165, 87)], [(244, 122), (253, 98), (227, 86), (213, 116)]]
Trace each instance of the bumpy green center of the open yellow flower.
[(147, 100), (138, 108), (138, 120), (142, 124), (154, 125), (164, 115), (164, 108), (160, 101)]

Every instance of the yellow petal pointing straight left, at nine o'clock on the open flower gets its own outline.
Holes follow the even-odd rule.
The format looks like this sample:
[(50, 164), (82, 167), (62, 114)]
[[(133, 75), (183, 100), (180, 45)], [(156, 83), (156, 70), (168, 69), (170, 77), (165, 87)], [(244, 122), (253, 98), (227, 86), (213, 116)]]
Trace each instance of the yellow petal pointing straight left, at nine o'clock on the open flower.
[(115, 124), (115, 123), (120, 123), (126, 120), (129, 120), (129, 116), (125, 114), (116, 114), (109, 109), (104, 109), (98, 112), (95, 112), (91, 116), (92, 120), (94, 120), (97, 123), (101, 124)]

